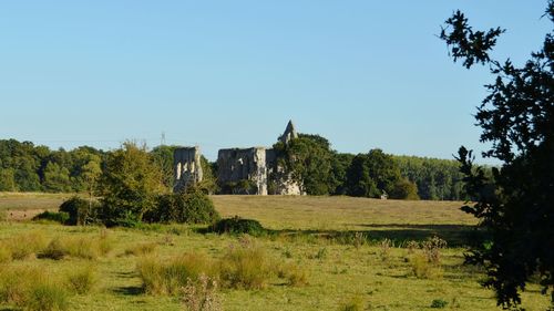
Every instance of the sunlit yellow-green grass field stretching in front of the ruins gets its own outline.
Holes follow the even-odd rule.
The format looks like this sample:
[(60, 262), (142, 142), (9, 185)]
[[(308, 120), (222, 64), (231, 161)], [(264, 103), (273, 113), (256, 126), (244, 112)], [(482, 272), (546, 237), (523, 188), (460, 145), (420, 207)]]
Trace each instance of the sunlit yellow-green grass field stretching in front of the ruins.
[[(0, 194), (0, 209), (52, 209), (64, 195)], [(239, 215), (258, 219), (273, 235), (255, 239), (275, 265), (295, 263), (307, 276), (307, 284), (287, 286), (273, 276), (260, 290), (224, 288), (224, 310), (347, 310), (349, 302), (361, 309), (350, 310), (499, 310), (492, 291), (479, 286), (482, 271), (463, 266), (463, 238), (474, 219), (459, 210), (461, 203), (396, 201), (346, 197), (244, 197), (215, 196), (224, 216)], [(47, 240), (57, 237), (94, 239), (101, 228), (64, 227), (52, 224), (7, 221), (0, 224), (0, 240), (34, 232)], [(340, 239), (361, 232), (363, 240)], [(406, 241), (424, 240), (438, 235), (450, 242), (440, 251), (433, 273), (419, 276), (412, 260), (421, 250), (411, 250)], [(38, 267), (53, 277), (82, 266), (96, 270), (91, 292), (69, 297), (68, 310), (185, 310), (178, 296), (153, 296), (143, 290), (136, 271), (141, 256), (130, 249), (148, 243), (162, 261), (182, 253), (204, 253), (222, 259), (236, 246), (238, 237), (199, 234), (189, 226), (153, 226), (145, 229), (110, 229), (113, 249), (93, 259), (74, 257), (62, 260), (38, 259), (4, 263), (3, 269)], [(383, 243), (384, 238), (396, 245)], [(403, 241), (404, 243), (401, 243)], [(416, 255), (414, 255), (414, 253)], [(1, 262), (1, 260), (0, 260)], [(425, 266), (425, 265), (423, 265)], [(425, 266), (427, 267), (427, 266)], [(424, 268), (424, 267), (423, 267)], [(2, 269), (0, 269), (2, 271)], [(4, 270), (6, 271), (6, 270)], [(442, 303), (434, 303), (439, 301)], [(531, 286), (523, 296), (527, 310), (545, 310), (548, 298)], [(342, 308), (342, 309), (341, 309)], [(0, 310), (18, 310), (0, 304)]]

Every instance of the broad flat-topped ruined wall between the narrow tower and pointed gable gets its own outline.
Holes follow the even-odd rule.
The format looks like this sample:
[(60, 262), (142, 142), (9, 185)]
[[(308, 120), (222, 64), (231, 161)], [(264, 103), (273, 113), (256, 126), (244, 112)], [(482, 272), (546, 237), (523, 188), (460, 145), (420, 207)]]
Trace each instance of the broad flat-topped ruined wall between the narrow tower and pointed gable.
[(267, 195), (266, 148), (220, 149), (217, 154), (219, 185), (252, 180), (257, 195)]

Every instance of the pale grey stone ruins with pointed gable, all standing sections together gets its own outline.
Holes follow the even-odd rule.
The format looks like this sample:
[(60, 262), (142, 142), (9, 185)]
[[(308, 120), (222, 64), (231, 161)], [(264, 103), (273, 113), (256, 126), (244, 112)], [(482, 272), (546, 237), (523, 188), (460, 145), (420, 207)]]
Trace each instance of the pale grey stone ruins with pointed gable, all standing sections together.
[[(297, 138), (295, 125), (287, 124), (279, 142)], [(175, 189), (202, 182), (199, 148), (175, 151)], [(217, 183), (224, 193), (245, 195), (302, 195), (300, 186), (277, 164), (273, 148), (227, 148), (217, 153)]]

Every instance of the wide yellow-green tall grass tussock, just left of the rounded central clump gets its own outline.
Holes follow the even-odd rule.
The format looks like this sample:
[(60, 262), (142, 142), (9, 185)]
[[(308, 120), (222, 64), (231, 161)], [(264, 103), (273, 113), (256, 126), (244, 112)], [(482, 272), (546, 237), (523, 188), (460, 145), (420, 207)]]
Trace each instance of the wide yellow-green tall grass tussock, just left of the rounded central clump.
[(196, 282), (201, 274), (214, 274), (212, 261), (196, 253), (165, 260), (143, 257), (138, 260), (136, 270), (144, 290), (150, 294), (177, 294), (188, 280)]

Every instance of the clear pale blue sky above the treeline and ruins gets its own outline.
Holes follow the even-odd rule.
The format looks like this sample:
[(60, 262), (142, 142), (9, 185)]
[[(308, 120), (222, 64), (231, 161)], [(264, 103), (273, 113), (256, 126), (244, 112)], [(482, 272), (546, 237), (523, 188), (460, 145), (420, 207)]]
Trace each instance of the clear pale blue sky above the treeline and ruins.
[(507, 32), (516, 63), (546, 1), (1, 1), (0, 138), (114, 148), (126, 138), (270, 146), (289, 118), (339, 152), (478, 151), (491, 81), (435, 35), (453, 10)]

